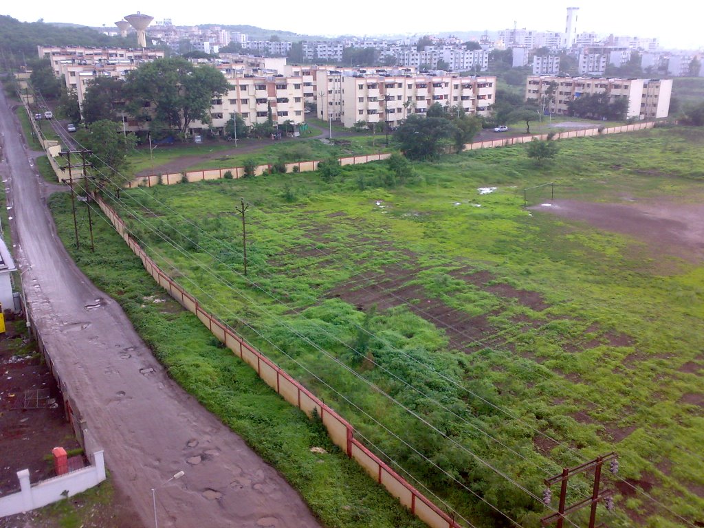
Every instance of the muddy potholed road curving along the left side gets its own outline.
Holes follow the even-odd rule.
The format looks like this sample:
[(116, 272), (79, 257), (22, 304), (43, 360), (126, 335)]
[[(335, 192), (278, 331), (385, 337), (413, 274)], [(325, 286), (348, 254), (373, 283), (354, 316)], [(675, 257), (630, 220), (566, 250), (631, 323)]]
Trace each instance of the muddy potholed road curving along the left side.
[(120, 306), (77, 269), (56, 236), (44, 183), (2, 91), (0, 133), (0, 175), (27, 303), (106, 451), (115, 486), (137, 510), (135, 527), (154, 524), (150, 490), (179, 470), (186, 475), (157, 491), (161, 527), (319, 526), (272, 467), (168, 378)]

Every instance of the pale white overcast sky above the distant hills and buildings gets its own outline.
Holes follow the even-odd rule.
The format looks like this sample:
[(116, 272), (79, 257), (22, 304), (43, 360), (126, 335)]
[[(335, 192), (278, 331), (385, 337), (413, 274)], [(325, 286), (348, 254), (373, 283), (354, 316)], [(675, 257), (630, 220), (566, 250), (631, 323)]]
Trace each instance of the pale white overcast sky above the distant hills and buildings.
[[(268, 0), (240, 4), (224, 2), (149, 0), (122, 2), (3, 2), (0, 13), (32, 22), (70, 22), (93, 26), (113, 26), (123, 15), (142, 11), (155, 20), (171, 18), (175, 25), (248, 24), (271, 30), (306, 34), (398, 34), (452, 31), (496, 31), (513, 27), (537, 31), (565, 30), (567, 6), (579, 7), (577, 31), (638, 37), (657, 37), (662, 46), (702, 49), (704, 37), (700, 23), (704, 8), (697, 0), (670, 0), (665, 4), (649, 2), (589, 0), (583, 2), (504, 0), (471, 2), (448, 0), (440, 4), (415, 2), (403, 4), (379, 0), (301, 1)], [(208, 8), (208, 6), (212, 6)], [(244, 7), (246, 6), (246, 7)], [(429, 8), (429, 6), (432, 6)], [(699, 6), (699, 7), (696, 7)], [(436, 8), (432, 12), (430, 9)]]

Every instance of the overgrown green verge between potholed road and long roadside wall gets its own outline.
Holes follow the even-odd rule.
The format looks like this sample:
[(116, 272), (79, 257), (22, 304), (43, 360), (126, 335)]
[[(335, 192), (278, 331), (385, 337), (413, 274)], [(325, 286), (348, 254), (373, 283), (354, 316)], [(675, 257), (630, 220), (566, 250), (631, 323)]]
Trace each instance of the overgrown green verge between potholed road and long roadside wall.
[[(154, 303), (168, 296), (105, 218), (101, 216), (94, 225), (96, 252), (91, 253), (81, 211), (82, 249), (76, 251), (69, 197), (52, 196), (51, 209), (61, 239), (77, 264), (120, 303), (170, 376), (276, 467), (324, 526), (423, 526), (341, 453), (320, 424), (275, 394), (194, 315), (172, 300)], [(311, 453), (312, 447), (325, 448), (328, 454)]]

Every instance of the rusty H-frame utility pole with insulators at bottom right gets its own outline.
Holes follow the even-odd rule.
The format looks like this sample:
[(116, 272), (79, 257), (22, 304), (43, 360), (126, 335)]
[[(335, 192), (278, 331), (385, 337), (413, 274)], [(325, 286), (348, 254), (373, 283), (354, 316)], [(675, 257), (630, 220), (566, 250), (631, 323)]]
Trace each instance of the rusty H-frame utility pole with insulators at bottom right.
[[(550, 486), (558, 482), (560, 482), (560, 502), (558, 503), (558, 511), (556, 513), (543, 517), (540, 520), (541, 524), (543, 526), (548, 526), (549, 524), (553, 524), (553, 522), (557, 521), (557, 528), (562, 528), (562, 525), (564, 524), (567, 515), (570, 515), (570, 513), (573, 513), (577, 510), (581, 510), (586, 505), (590, 505), (591, 513), (589, 515), (589, 528), (595, 528), (596, 506), (598, 505), (599, 501), (605, 501), (606, 508), (608, 510), (613, 509), (612, 492), (599, 490), (601, 487), (601, 466), (605, 462), (610, 463), (610, 470), (612, 473), (615, 474), (618, 472), (618, 455), (614, 452), (611, 452), (608, 453), (608, 455), (598, 456), (594, 460), (590, 460), (589, 462), (586, 462), (582, 465), (578, 465), (577, 467), (565, 467), (565, 469), (562, 470), (561, 474), (555, 475), (555, 477), (550, 477), (549, 479), (545, 479), (544, 482), (545, 485), (548, 486), (548, 488), (546, 488), (543, 494), (543, 502), (546, 505), (550, 504), (550, 500), (552, 497)], [(567, 499), (567, 480), (575, 474), (586, 472), (592, 469), (594, 470), (594, 484), (592, 488), (591, 497), (585, 498), (582, 501), (565, 507), (565, 502)]]

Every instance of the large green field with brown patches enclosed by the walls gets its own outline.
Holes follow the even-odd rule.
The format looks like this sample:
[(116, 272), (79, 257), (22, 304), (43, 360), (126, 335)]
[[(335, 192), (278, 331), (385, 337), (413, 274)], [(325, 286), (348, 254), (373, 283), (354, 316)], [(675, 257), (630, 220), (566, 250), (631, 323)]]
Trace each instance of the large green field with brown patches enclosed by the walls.
[[(543, 167), (515, 146), (414, 165), (401, 187), (384, 187), (386, 165), (374, 163), (333, 182), (270, 175), (132, 189), (115, 206), (203, 306), (458, 515), (507, 525), (497, 508), (536, 527), (546, 510), (524, 490), (541, 496), (561, 467), (615, 450), (624, 480), (609, 485), (618, 508), (600, 506), (600, 520), (675, 527), (678, 515), (704, 517), (704, 267), (524, 210), (522, 189), (554, 181), (563, 199), (700, 203), (703, 145), (701, 130), (656, 129), (560, 142)], [(240, 196), (251, 204), (247, 277)], [(113, 260), (92, 259), (79, 261), (99, 287), (134, 289), (113, 284)], [(137, 295), (148, 291), (140, 282)], [(219, 374), (239, 366), (229, 354), (198, 367), (203, 356), (162, 352), (168, 338), (153, 332), (148, 342), (189, 390), (237, 390)], [(219, 396), (198, 394), (229, 423)], [(256, 446), (260, 434), (245, 436)], [(570, 486), (572, 500), (591, 492), (585, 479)]]

